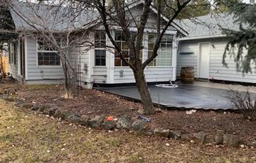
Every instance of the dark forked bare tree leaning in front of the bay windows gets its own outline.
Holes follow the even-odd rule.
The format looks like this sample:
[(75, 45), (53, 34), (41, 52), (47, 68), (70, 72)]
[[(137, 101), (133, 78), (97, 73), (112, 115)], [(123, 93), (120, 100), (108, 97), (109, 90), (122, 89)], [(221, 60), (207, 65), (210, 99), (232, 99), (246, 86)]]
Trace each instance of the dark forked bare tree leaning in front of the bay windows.
[[(158, 0), (158, 4), (162, 4), (164, 0)], [(155, 20), (155, 27), (157, 28), (157, 36), (155, 45), (153, 48), (152, 55), (148, 57), (147, 60), (142, 61), (140, 59), (140, 52), (143, 49), (142, 42), (145, 32), (145, 28), (148, 26), (148, 17), (152, 9), (152, 0), (144, 1), (125, 1), (125, 0), (78, 0), (78, 2), (86, 3), (94, 9), (97, 9), (100, 14), (104, 30), (108, 34), (108, 38), (115, 47), (118, 56), (121, 58), (123, 63), (129, 65), (133, 70), (134, 78), (137, 84), (138, 92), (141, 96), (141, 101), (144, 106), (145, 114), (154, 114), (155, 110), (152, 103), (152, 98), (150, 96), (148, 85), (144, 77), (144, 68), (152, 63), (152, 60), (158, 56), (158, 49), (168, 27), (173, 24), (174, 19), (181, 13), (182, 9), (191, 2), (191, 0), (175, 0), (166, 1), (166, 7), (171, 11), (171, 16), (168, 18), (165, 24), (162, 24), (163, 18), (161, 15), (161, 9), (157, 9), (157, 19)], [(133, 16), (130, 13), (130, 6), (134, 3), (142, 2), (143, 9), (139, 16)], [(171, 3), (171, 4), (170, 4)], [(158, 5), (159, 7), (161, 5)], [(114, 24), (114, 25), (113, 25)], [(126, 60), (126, 53), (123, 52), (121, 46), (115, 42), (115, 38), (112, 35), (112, 26), (118, 27), (123, 31), (123, 37), (125, 38), (126, 44), (129, 47), (129, 60)], [(134, 33), (134, 27), (136, 28), (136, 33)]]

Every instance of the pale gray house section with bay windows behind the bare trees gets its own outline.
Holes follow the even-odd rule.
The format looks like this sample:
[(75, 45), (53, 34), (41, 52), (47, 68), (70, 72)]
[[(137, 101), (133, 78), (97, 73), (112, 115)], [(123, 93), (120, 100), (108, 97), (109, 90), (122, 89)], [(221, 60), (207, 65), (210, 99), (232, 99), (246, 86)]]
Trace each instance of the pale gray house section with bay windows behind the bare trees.
[[(25, 2), (19, 3), (24, 14), (33, 17), (31, 7), (28, 7)], [(37, 6), (38, 4), (33, 4)], [(143, 4), (141, 1), (134, 2), (129, 5), (129, 16), (133, 14), (133, 18), (141, 14)], [(48, 5), (40, 6), (41, 10), (47, 10)], [(148, 19), (148, 26), (145, 28), (143, 49), (141, 50), (141, 60), (146, 60), (152, 53), (152, 46), (155, 42), (156, 34), (156, 16), (157, 11), (152, 6), (151, 13)], [(13, 17), (16, 31), (20, 33), (20, 40), (12, 45), (10, 50), (9, 72), (14, 78), (23, 81), (27, 84), (37, 83), (58, 83), (63, 82), (64, 73), (60, 63), (60, 57), (57, 52), (51, 51), (44, 47), (43, 42), (37, 38), (31, 38), (24, 34), (23, 31), (33, 32), (33, 29), (24, 22), (12, 9), (10, 9)], [(49, 15), (48, 15), (49, 16)], [(93, 17), (93, 18), (92, 18)], [(86, 45), (79, 45), (72, 49), (70, 60), (72, 63), (77, 63), (79, 71), (79, 80), (83, 87), (91, 87), (93, 84), (123, 84), (134, 83), (133, 71), (127, 67), (118, 56), (115, 55), (115, 50), (107, 50), (106, 45), (112, 45), (104, 28), (91, 24), (92, 20), (97, 17), (96, 11), (84, 11), (77, 17), (74, 26), (86, 27), (89, 30), (86, 33), (86, 38), (91, 42), (100, 45), (94, 45), (93, 49), (88, 49)], [(162, 15), (163, 24), (168, 20)], [(47, 18), (51, 20), (51, 18)], [(136, 32), (136, 27), (130, 27), (131, 31)], [(22, 34), (22, 35), (21, 35)], [(123, 52), (129, 53), (126, 48), (126, 42), (122, 37), (122, 30), (112, 28), (112, 34), (115, 42), (122, 46)], [(169, 82), (176, 80), (176, 63), (177, 63), (177, 38), (185, 36), (187, 32), (178, 26), (176, 23), (166, 31), (163, 37), (163, 42), (159, 49), (159, 56), (145, 68), (145, 78), (147, 82)], [(103, 46), (102, 46), (103, 45)]]

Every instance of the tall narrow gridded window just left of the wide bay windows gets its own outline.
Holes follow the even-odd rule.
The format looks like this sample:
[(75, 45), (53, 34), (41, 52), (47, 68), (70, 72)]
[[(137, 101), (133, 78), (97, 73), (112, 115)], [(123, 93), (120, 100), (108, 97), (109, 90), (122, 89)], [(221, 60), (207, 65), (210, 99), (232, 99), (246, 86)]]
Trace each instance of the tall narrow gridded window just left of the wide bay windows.
[(96, 31), (94, 36), (95, 66), (106, 66), (106, 33)]

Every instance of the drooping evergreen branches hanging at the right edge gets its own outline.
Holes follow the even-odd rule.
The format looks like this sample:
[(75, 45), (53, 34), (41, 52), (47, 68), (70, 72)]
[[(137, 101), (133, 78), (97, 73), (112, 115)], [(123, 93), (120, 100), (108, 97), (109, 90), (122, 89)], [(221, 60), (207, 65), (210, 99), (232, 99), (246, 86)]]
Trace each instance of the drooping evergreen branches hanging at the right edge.
[[(251, 72), (251, 61), (256, 63), (256, 5), (233, 0), (227, 0), (225, 5), (231, 9), (230, 14), (233, 14), (235, 23), (240, 25), (240, 30), (222, 29), (229, 37), (222, 63), (228, 66), (226, 56), (234, 55), (237, 71), (243, 74)], [(233, 49), (236, 48), (238, 51), (234, 53)], [(247, 53), (243, 53), (244, 49), (247, 49)]]

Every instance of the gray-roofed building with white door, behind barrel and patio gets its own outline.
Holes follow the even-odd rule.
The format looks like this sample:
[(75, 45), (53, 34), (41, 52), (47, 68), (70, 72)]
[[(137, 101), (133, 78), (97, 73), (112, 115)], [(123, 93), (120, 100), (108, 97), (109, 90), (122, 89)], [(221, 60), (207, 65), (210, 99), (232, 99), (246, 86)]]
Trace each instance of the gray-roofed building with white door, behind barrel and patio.
[[(255, 83), (256, 74), (242, 74), (236, 70), (233, 55), (225, 58), (228, 67), (222, 64), (222, 56), (228, 39), (222, 34), (221, 28), (239, 31), (240, 27), (234, 23), (233, 16), (228, 13), (210, 13), (192, 19), (177, 20), (182, 28), (188, 31), (188, 36), (179, 39), (177, 53), (177, 77), (181, 67), (194, 67), (195, 78), (204, 78), (227, 82)], [(244, 50), (244, 54), (247, 50)], [(251, 64), (252, 66), (255, 63)]]

